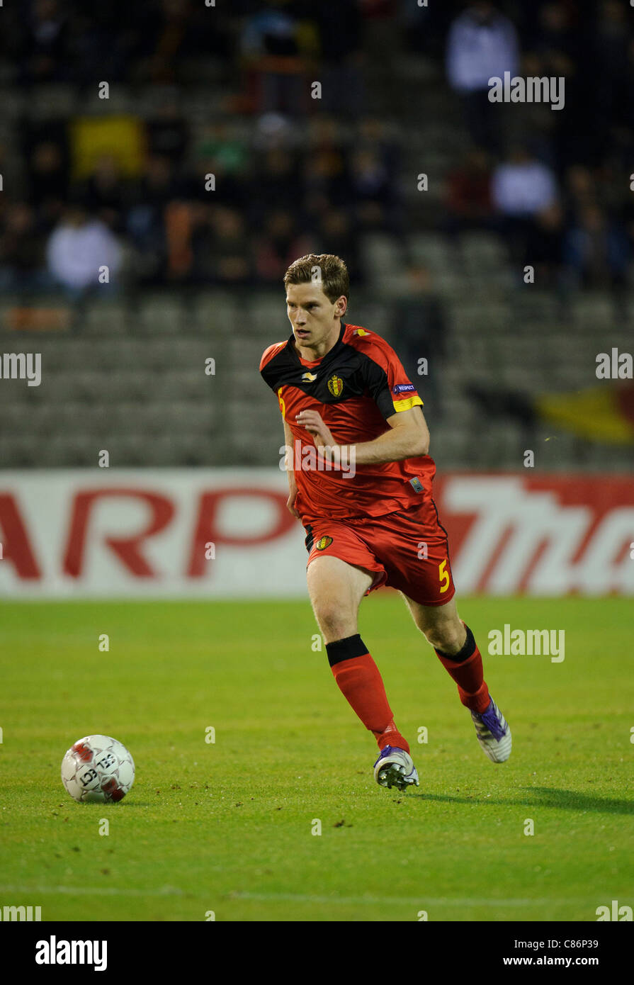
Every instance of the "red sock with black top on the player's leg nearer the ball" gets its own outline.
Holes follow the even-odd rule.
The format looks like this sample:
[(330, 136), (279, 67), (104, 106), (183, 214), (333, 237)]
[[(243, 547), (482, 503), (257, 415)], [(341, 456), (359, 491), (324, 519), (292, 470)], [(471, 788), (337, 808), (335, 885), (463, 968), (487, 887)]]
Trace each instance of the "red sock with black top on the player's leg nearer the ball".
[(379, 749), (395, 746), (409, 753), (408, 741), (394, 724), (379, 669), (358, 633), (327, 643), (326, 650), (339, 689), (365, 728), (373, 733)]

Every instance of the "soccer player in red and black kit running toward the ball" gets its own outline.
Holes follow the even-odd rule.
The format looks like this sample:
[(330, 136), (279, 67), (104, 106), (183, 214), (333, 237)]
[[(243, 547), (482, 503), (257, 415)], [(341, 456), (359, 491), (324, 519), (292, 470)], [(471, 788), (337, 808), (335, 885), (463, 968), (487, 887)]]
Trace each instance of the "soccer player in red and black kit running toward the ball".
[(335, 680), (378, 743), (374, 778), (400, 790), (418, 786), (410, 746), (358, 633), (361, 599), (382, 585), (403, 595), (470, 709), (480, 747), (503, 762), (511, 731), (456, 609), (422, 401), (387, 342), (343, 321), (349, 276), (340, 257), (303, 256), (284, 283), (292, 332), (265, 351), (260, 372), (282, 410), (287, 506), (306, 531), (310, 601)]

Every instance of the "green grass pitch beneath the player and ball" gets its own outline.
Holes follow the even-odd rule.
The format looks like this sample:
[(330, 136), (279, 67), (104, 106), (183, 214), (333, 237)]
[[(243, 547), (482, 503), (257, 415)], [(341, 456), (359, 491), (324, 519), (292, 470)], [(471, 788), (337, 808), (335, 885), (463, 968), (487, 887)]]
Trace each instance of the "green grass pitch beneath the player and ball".
[[(42, 920), (594, 921), (612, 899), (632, 905), (631, 600), (459, 610), (513, 755), (482, 755), (403, 602), (379, 593), (359, 628), (420, 775), (400, 794), (372, 779), (374, 740), (311, 648), (307, 601), (3, 604), (0, 906), (40, 905)], [(487, 656), (505, 623), (565, 629), (564, 662)], [(90, 733), (135, 758), (120, 804), (62, 787), (62, 756)]]

